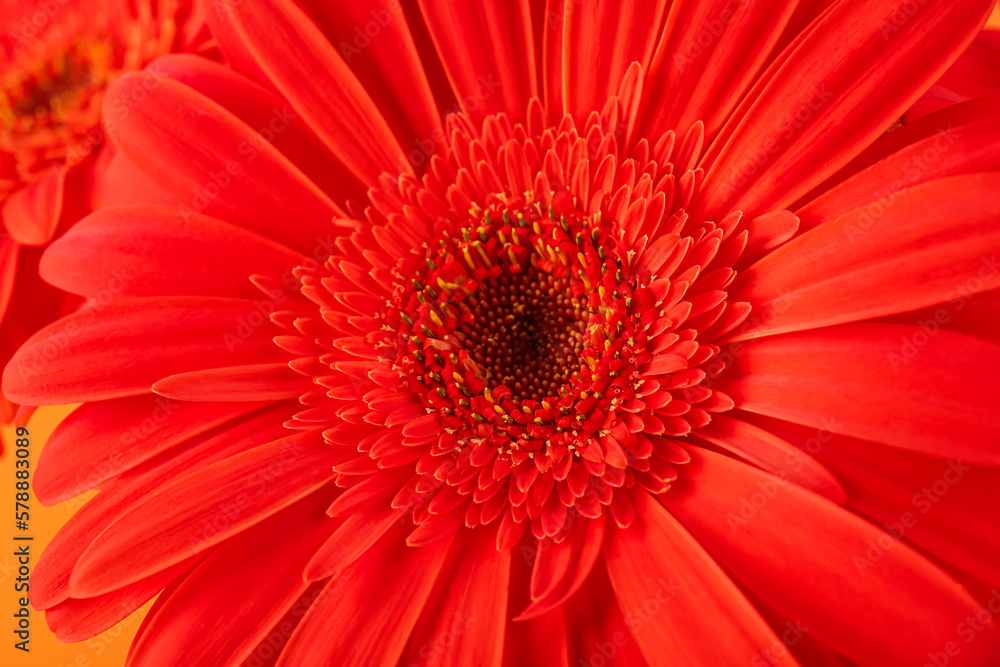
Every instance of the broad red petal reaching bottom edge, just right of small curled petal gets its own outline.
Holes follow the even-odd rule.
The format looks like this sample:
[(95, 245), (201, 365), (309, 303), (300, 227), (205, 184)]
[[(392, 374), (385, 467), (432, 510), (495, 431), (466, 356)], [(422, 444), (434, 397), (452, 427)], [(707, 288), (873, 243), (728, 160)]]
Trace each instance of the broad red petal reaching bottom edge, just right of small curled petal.
[[(615, 531), (604, 556), (626, 618), (645, 612), (645, 622), (631, 629), (650, 664), (667, 664), (670, 656), (692, 666), (748, 665), (778, 641), (726, 573), (657, 500), (640, 493), (636, 505), (638, 520)], [(797, 663), (786, 654), (775, 664)]]

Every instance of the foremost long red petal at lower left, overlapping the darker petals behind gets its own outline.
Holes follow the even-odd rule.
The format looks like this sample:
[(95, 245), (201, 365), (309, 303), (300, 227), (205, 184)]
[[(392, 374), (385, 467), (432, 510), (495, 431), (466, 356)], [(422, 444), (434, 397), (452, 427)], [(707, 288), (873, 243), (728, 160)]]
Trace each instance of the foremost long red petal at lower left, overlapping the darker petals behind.
[(178, 563), (271, 516), (333, 477), (313, 433), (204, 466), (133, 503), (83, 553), (74, 595), (101, 593)]

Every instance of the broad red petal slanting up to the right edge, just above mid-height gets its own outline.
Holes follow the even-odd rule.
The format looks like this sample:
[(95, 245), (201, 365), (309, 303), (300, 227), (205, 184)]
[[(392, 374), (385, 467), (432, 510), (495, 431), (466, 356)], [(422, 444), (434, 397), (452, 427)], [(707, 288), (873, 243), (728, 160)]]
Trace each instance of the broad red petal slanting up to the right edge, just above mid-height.
[(731, 288), (757, 313), (737, 338), (915, 310), (965, 283), (1000, 286), (998, 188), (1000, 174), (934, 181), (901, 192), (877, 221), (856, 209), (786, 243)]

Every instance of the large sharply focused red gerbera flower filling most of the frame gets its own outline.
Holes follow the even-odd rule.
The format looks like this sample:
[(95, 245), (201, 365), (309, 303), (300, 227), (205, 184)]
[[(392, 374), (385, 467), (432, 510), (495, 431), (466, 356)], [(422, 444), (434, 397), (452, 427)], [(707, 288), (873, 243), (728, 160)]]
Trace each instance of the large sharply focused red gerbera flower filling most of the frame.
[(158, 205), (43, 257), (62, 638), (162, 590), (130, 664), (1000, 659), (997, 100), (885, 134), (992, 2), (305, 5), (115, 83)]

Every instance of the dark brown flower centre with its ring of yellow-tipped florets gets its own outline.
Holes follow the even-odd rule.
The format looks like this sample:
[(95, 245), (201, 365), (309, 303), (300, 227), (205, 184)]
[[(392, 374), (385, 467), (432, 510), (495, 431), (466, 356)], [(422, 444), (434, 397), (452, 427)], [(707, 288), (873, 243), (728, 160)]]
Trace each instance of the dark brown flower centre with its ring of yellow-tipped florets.
[(474, 214), (397, 289), (397, 363), (460, 439), (582, 447), (614, 426), (635, 371), (636, 281), (568, 196)]

